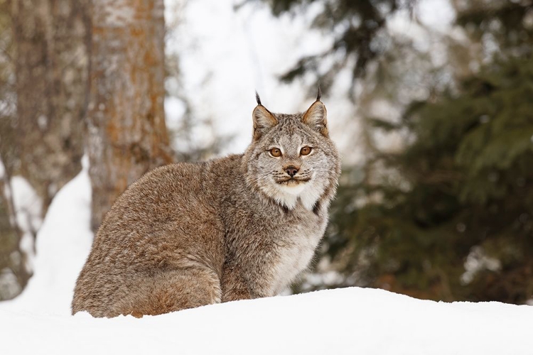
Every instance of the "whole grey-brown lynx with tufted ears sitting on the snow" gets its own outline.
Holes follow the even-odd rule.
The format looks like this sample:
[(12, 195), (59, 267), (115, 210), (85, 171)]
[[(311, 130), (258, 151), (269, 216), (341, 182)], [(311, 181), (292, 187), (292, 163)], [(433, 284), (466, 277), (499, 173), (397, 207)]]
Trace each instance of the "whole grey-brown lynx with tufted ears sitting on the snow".
[(129, 186), (97, 231), (72, 314), (158, 315), (290, 285), (324, 234), (340, 175), (320, 99), (272, 114), (257, 95), (244, 154), (166, 165)]

